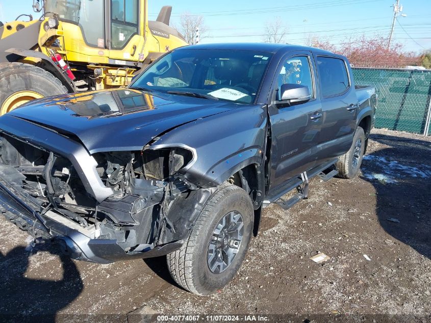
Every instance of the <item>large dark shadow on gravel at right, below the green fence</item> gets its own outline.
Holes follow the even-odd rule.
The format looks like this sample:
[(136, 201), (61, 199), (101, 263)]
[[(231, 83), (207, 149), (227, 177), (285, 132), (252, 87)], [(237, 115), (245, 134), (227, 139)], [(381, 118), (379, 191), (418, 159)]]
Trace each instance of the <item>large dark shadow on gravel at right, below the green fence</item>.
[(390, 146), (363, 161), (378, 220), (392, 237), (431, 259), (431, 142), (382, 135), (373, 140)]

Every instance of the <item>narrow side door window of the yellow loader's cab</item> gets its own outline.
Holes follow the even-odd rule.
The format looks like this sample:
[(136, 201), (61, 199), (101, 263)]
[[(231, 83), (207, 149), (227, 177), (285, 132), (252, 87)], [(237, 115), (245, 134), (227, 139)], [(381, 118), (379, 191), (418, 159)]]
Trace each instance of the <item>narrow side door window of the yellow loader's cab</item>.
[(123, 48), (138, 33), (138, 0), (111, 0), (111, 47)]

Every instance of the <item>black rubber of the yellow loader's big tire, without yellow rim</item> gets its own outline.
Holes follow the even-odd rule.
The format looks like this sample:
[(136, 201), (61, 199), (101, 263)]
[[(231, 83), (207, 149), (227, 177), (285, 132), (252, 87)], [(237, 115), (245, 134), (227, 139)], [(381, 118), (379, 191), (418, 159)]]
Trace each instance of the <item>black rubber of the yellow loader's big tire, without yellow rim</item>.
[(19, 91), (33, 91), (42, 96), (67, 93), (66, 87), (53, 74), (30, 64), (0, 64), (0, 108), (6, 99)]

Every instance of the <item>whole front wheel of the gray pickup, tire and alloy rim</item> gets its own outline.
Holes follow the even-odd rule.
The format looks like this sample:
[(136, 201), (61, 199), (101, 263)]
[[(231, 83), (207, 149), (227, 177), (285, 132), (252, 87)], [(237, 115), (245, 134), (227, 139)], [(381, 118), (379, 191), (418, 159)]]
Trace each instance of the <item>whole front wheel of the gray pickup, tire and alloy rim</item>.
[(241, 266), (252, 228), (253, 205), (248, 194), (233, 184), (221, 185), (181, 249), (167, 255), (172, 278), (198, 295), (216, 292)]

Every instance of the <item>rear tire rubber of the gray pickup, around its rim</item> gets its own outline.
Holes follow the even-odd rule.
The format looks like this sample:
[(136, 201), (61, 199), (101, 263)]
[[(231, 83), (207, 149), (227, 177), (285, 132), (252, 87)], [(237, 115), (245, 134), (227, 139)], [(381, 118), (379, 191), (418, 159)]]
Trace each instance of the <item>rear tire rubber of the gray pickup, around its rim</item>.
[[(353, 166), (353, 158), (355, 155), (355, 147), (358, 142), (358, 140), (361, 140), (361, 148), (360, 148), (360, 154), (359, 154), (359, 160), (356, 165), (356, 167)], [(338, 170), (338, 177), (345, 178), (345, 179), (352, 179), (358, 175), (359, 169), (361, 168), (362, 158), (364, 156), (365, 152), (365, 133), (364, 129), (361, 127), (358, 127), (356, 129), (356, 132), (353, 136), (353, 142), (350, 146), (350, 149), (347, 153), (340, 156), (338, 158), (337, 163), (335, 164), (335, 167)]]

